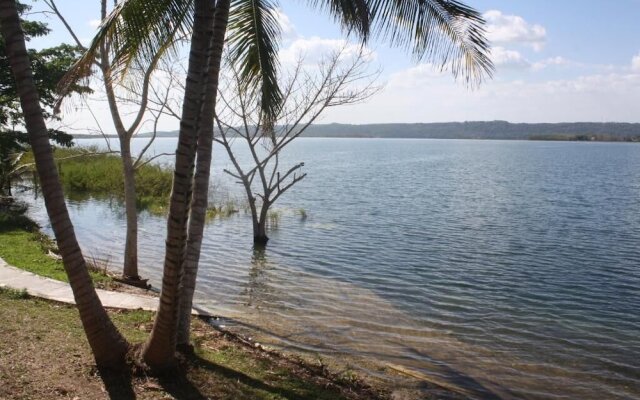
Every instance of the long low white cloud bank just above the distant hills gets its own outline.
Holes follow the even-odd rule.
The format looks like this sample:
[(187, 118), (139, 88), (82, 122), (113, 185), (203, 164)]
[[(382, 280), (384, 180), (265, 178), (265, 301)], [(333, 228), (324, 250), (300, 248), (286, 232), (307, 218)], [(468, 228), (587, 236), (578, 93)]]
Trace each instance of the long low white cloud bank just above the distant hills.
[(640, 122), (640, 74), (591, 74), (546, 81), (500, 80), (477, 90), (429, 65), (390, 76), (369, 102), (327, 112), (323, 122)]

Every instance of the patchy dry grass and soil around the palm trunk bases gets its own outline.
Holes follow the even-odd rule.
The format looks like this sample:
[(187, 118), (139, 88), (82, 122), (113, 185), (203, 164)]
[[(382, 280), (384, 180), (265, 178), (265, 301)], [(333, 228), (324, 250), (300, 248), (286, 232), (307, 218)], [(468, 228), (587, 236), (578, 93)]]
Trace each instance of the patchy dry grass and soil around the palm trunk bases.
[[(144, 341), (154, 314), (110, 311), (131, 342)], [(0, 398), (375, 399), (380, 393), (349, 375), (264, 352), (194, 321), (194, 354), (169, 376), (113, 374), (95, 361), (75, 307), (0, 288)], [(7, 351), (4, 351), (7, 350)], [(33, 368), (38, 365), (38, 368)], [(11, 366), (10, 368), (8, 366)], [(72, 366), (72, 367), (70, 367)], [(103, 389), (104, 386), (104, 389)], [(134, 396), (131, 396), (131, 393)]]

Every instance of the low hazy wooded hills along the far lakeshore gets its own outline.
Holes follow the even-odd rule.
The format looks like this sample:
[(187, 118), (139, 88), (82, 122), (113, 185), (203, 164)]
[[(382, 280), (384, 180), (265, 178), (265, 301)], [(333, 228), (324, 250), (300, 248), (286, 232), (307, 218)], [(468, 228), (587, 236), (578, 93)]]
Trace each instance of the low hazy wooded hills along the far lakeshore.
[[(158, 137), (178, 133), (158, 132)], [(148, 137), (150, 134), (141, 134)], [(305, 137), (398, 139), (509, 139), (509, 140), (607, 140), (640, 141), (640, 124), (572, 122), (513, 124), (506, 121), (443, 122), (418, 124), (312, 125)], [(79, 136), (76, 136), (79, 138)], [(85, 137), (85, 136), (83, 136)], [(86, 136), (88, 137), (88, 136)], [(91, 136), (96, 137), (96, 136)], [(97, 136), (100, 137), (100, 136)]]

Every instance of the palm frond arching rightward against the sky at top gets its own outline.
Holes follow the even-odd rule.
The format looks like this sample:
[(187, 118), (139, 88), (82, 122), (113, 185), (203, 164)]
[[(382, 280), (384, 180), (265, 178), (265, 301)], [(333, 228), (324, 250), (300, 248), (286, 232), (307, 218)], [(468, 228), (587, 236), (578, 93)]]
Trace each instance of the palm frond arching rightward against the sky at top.
[(392, 45), (428, 59), (470, 85), (493, 74), (485, 21), (455, 0), (368, 0), (372, 31)]

